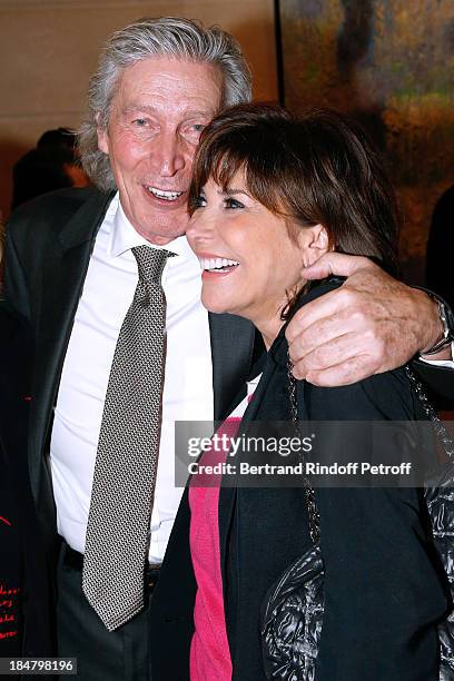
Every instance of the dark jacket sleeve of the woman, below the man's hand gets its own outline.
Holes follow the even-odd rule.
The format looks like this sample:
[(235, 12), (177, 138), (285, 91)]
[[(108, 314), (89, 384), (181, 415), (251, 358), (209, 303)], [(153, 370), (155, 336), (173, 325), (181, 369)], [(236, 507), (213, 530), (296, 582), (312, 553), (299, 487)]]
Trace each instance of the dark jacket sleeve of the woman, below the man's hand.
[[(309, 386), (305, 394), (314, 421), (413, 415), (402, 371), (340, 388)], [(368, 457), (369, 442), (362, 437), (349, 441), (347, 453), (342, 432), (329, 442), (332, 461)], [(316, 499), (325, 562), (317, 681), (437, 680), (435, 624), (448, 603), (421, 490), (317, 488)]]

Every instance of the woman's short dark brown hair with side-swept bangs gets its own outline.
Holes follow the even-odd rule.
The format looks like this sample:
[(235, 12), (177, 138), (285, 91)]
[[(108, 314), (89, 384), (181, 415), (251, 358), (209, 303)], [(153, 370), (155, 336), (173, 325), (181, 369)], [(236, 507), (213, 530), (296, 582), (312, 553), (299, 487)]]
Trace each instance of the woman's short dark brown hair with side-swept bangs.
[(363, 129), (328, 109), (295, 118), (280, 107), (238, 105), (204, 130), (189, 211), (211, 177), (226, 189), (243, 171), (250, 195), (296, 226), (324, 225), (334, 250), (368, 256), (395, 274), (397, 210), (384, 161)]

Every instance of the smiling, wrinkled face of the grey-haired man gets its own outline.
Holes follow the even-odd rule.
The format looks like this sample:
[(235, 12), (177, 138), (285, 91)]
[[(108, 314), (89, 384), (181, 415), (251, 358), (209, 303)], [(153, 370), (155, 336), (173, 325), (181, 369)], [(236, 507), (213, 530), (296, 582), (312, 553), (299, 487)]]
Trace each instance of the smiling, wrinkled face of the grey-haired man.
[(120, 77), (98, 145), (127, 217), (151, 244), (186, 231), (193, 159), (220, 108), (221, 86), (216, 67), (167, 57), (138, 61)]

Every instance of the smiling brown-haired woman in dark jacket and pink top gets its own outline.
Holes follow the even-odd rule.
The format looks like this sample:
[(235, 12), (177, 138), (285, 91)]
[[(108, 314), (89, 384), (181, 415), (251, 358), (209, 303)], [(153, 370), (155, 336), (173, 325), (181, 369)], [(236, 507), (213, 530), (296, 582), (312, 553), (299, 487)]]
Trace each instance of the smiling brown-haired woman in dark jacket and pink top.
[[(306, 303), (339, 286), (326, 280), (308, 290), (302, 278), (302, 266), (328, 249), (375, 258), (389, 272), (396, 267), (393, 188), (361, 128), (327, 110), (299, 119), (267, 106), (226, 110), (201, 134), (189, 210), (187, 237), (203, 268), (204, 305), (250, 319), (268, 351), (249, 377), (247, 398), (245, 389), (218, 433), (239, 427), (241, 437), (256, 435), (257, 422), (290, 421), (297, 411), (300, 421), (332, 422), (317, 431), (314, 463), (343, 466), (374, 455), (379, 464), (367, 427), (355, 427), (346, 442), (338, 423), (423, 418), (405, 372), (339, 388), (295, 384), (284, 333), (297, 309), (304, 314)], [(259, 454), (267, 461), (266, 451)], [(403, 442), (386, 451), (385, 463), (409, 455)], [(204, 454), (201, 463), (214, 456)], [(272, 488), (267, 480), (263, 487), (255, 483), (259, 488), (247, 484), (231, 490), (214, 476), (203, 488), (196, 475), (190, 482), (197, 582), (191, 681), (436, 681), (436, 623), (447, 601), (444, 575), (431, 557), (422, 491), (366, 481), (366, 488), (316, 488), (308, 497), (304, 475), (293, 488)], [(287, 571), (313, 554), (314, 504), (324, 566), (322, 636), (320, 619), (299, 598), (305, 584), (298, 598), (292, 592), (283, 615), (274, 605), (266, 610), (269, 594), (273, 603), (287, 602)]]

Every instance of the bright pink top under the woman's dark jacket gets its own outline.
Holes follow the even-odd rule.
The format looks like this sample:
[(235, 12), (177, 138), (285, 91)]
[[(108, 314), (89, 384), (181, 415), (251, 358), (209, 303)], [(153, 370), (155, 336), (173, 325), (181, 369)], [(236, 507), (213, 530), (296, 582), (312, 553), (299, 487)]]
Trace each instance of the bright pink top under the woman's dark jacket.
[[(259, 378), (259, 377), (258, 377)], [(218, 428), (217, 434), (234, 437), (258, 378), (248, 384), (251, 393)], [(248, 391), (249, 392), (249, 391)], [(219, 441), (218, 441), (219, 442)], [(206, 452), (204, 465), (223, 464), (228, 451)], [(220, 468), (221, 466), (219, 466)], [(190, 647), (191, 681), (230, 681), (231, 660), (224, 613), (218, 502), (221, 473), (197, 474), (189, 486), (190, 553), (197, 581), (194, 608), (195, 633)], [(195, 485), (198, 486), (195, 486)]]

